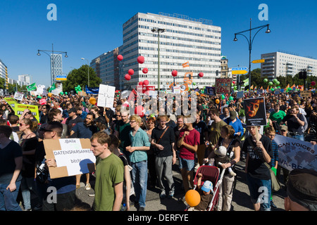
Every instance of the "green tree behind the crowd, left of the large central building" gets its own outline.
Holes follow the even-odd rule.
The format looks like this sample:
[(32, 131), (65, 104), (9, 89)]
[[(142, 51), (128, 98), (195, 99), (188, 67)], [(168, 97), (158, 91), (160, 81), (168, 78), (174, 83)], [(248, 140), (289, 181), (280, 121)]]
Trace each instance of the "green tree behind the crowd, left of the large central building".
[[(89, 67), (89, 86), (95, 87), (101, 84), (101, 79), (97, 77), (94, 69)], [(88, 86), (88, 70), (87, 65), (82, 65), (79, 69), (71, 70), (67, 75), (66, 82), (63, 82), (63, 91), (75, 91), (75, 86), (80, 85), (82, 91), (85, 91), (85, 86)]]

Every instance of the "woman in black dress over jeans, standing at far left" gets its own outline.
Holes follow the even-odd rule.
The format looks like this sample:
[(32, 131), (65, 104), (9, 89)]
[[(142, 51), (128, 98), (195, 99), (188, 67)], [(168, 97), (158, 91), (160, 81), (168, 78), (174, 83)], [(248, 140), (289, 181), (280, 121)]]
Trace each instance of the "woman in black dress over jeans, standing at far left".
[(23, 167), (21, 169), (21, 193), (24, 202), (24, 210), (31, 211), (31, 193), (35, 193), (35, 149), (37, 148), (37, 136), (32, 131), (34, 123), (29, 118), (20, 120), (19, 130), (23, 132), (19, 141), (23, 153)]

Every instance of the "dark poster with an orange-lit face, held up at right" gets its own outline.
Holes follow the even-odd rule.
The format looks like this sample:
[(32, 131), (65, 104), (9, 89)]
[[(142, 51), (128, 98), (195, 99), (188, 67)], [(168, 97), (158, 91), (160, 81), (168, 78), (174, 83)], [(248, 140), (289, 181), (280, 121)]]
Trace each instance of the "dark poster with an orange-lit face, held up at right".
[(244, 110), (247, 126), (266, 125), (266, 105), (264, 98), (244, 99)]

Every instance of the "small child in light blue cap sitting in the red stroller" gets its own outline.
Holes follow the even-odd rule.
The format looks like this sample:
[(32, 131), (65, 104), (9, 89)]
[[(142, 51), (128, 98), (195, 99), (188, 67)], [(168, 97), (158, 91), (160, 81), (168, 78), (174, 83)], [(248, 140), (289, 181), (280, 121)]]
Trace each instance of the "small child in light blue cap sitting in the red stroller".
[(200, 195), (200, 203), (195, 207), (189, 207), (188, 211), (205, 211), (209, 207), (209, 203), (213, 198), (213, 183), (211, 181), (204, 181), (201, 186), (202, 174), (197, 174), (197, 191)]

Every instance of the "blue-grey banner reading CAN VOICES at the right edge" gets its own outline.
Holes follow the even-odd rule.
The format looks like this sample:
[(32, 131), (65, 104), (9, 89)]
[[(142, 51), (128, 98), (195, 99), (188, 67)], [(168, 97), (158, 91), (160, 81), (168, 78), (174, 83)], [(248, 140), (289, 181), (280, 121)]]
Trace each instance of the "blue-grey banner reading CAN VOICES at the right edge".
[(303, 168), (317, 170), (317, 145), (281, 135), (275, 135), (274, 141), (278, 144), (278, 165), (289, 171)]

